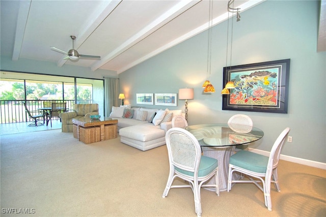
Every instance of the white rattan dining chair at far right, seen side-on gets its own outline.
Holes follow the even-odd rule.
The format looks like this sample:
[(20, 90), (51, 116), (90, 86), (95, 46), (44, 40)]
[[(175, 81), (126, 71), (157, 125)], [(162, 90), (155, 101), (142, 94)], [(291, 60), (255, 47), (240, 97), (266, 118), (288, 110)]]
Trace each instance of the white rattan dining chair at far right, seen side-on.
[[(249, 151), (239, 151), (232, 155), (229, 161), (228, 191), (231, 190), (232, 183), (254, 183), (263, 191), (265, 206), (271, 211), (270, 183), (273, 182), (277, 191), (281, 191), (278, 183), (277, 166), (284, 140), (289, 131), (290, 128), (285, 128), (282, 131), (274, 142), (269, 157)], [(233, 172), (247, 175), (249, 180), (232, 180)], [(262, 186), (259, 183), (262, 183)]]

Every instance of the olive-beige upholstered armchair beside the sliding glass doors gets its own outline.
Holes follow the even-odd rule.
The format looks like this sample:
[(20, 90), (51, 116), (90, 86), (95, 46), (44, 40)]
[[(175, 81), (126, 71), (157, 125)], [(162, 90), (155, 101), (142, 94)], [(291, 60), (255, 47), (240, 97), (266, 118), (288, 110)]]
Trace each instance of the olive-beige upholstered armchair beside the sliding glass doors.
[(72, 119), (90, 117), (90, 115), (98, 115), (98, 104), (73, 104), (72, 111), (59, 114), (62, 121), (61, 131), (73, 132)]

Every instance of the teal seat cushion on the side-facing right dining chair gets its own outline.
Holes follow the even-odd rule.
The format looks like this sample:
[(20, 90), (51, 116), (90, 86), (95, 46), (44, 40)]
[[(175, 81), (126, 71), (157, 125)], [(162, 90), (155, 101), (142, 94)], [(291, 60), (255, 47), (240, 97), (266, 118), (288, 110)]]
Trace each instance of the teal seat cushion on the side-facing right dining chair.
[(268, 157), (249, 151), (239, 151), (230, 157), (232, 165), (256, 173), (266, 173)]

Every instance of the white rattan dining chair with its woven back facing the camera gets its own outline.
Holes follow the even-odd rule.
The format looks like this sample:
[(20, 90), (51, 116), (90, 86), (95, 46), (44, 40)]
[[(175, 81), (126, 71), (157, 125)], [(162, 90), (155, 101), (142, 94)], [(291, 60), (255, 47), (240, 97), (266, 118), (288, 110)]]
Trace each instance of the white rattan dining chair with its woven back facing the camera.
[[(201, 187), (214, 187), (220, 196), (218, 160), (201, 155), (201, 147), (196, 137), (182, 128), (171, 128), (166, 134), (169, 154), (170, 174), (163, 198), (168, 196), (170, 188), (190, 187), (194, 193), (195, 212), (201, 216)], [(189, 182), (189, 185), (172, 185), (176, 177)], [(204, 184), (214, 177), (214, 184)]]

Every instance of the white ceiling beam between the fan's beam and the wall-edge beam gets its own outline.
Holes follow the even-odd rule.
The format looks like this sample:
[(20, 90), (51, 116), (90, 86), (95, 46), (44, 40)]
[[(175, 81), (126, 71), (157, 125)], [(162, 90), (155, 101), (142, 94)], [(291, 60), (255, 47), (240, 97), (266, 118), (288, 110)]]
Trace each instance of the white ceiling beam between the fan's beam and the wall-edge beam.
[(92, 67), (91, 70), (95, 71), (102, 65), (106, 64), (107, 62), (111, 61), (124, 51), (128, 50), (130, 47), (132, 47), (134, 44), (137, 44), (162, 26), (164, 26), (166, 23), (177, 17), (179, 14), (183, 13), (184, 11), (188, 10), (189, 8), (193, 7), (197, 3), (201, 2), (202, 0), (187, 0), (187, 1), (180, 1), (177, 5), (175, 5), (173, 8), (168, 10), (166, 13), (159, 16), (157, 19), (152, 21), (148, 26), (143, 28), (141, 31), (139, 31), (137, 34), (126, 40), (124, 43), (122, 43), (119, 47), (117, 47), (114, 51), (112, 51), (110, 54), (106, 55), (105, 57), (101, 58), (100, 61), (97, 61)]

